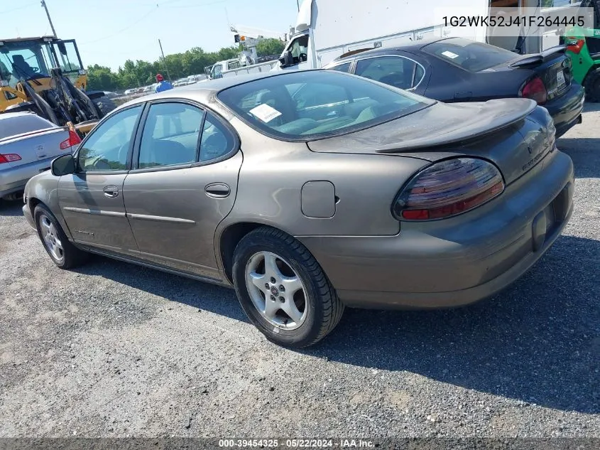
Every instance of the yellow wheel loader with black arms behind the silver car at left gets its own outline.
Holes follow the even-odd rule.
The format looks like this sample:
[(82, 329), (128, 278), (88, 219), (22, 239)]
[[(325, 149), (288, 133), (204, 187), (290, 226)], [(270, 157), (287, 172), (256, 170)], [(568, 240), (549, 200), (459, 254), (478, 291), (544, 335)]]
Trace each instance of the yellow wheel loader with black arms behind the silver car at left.
[(85, 134), (114, 108), (104, 92), (87, 90), (75, 40), (0, 38), (0, 113), (32, 111)]

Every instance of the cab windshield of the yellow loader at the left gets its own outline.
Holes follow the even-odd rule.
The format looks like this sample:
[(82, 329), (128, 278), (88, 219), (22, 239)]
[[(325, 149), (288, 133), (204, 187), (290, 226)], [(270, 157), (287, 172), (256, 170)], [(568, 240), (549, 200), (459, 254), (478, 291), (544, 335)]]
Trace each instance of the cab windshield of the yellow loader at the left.
[(5, 41), (0, 47), (0, 78), (14, 87), (18, 80), (48, 76), (51, 62), (48, 43)]

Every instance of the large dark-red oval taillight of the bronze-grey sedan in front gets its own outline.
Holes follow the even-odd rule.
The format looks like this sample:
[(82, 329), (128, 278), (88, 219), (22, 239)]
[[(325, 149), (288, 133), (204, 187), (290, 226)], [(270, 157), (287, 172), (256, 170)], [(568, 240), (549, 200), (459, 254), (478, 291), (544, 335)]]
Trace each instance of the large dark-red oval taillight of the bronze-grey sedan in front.
[(488, 161), (455, 158), (426, 168), (396, 197), (400, 220), (434, 220), (465, 213), (504, 191), (498, 168)]

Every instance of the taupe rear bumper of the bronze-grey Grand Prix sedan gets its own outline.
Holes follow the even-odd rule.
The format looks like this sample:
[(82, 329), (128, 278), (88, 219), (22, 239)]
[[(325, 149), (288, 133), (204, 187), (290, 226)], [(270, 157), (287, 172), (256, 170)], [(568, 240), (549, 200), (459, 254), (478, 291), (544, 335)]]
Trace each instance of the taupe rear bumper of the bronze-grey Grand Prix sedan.
[[(545, 166), (545, 167), (544, 167)], [(396, 236), (298, 237), (348, 306), (435, 309), (496, 294), (529, 269), (572, 214), (573, 165), (555, 151), (486, 205), (403, 223)], [(549, 220), (550, 209), (555, 220)]]

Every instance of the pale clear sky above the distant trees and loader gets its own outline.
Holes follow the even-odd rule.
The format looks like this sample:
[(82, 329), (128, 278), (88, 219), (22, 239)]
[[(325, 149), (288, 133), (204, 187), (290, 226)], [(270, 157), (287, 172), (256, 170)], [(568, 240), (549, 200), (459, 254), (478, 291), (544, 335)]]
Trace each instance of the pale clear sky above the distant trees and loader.
[[(296, 0), (45, 1), (58, 37), (77, 40), (84, 65), (114, 70), (127, 59), (158, 59), (158, 38), (165, 55), (219, 50), (234, 45), (228, 18), (234, 26), (287, 33), (298, 14)], [(40, 0), (0, 1), (0, 16), (0, 39), (52, 34)]]

